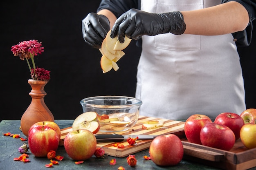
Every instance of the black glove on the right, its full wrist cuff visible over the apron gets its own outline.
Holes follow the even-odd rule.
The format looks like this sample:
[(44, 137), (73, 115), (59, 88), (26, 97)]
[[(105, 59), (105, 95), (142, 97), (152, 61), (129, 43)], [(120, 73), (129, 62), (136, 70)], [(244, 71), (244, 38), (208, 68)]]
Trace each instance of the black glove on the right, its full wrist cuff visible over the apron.
[(163, 33), (183, 34), (186, 24), (180, 11), (169, 13), (148, 13), (138, 9), (130, 9), (115, 22), (111, 38), (118, 35), (123, 43), (125, 35), (138, 40), (142, 35), (158, 35)]

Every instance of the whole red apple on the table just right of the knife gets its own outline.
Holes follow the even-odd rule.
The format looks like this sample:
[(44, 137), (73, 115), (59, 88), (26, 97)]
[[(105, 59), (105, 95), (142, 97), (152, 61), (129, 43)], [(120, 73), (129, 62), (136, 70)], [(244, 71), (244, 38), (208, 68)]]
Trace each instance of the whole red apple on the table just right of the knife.
[(180, 163), (184, 150), (179, 137), (174, 134), (155, 137), (149, 147), (151, 160), (158, 166), (174, 166)]

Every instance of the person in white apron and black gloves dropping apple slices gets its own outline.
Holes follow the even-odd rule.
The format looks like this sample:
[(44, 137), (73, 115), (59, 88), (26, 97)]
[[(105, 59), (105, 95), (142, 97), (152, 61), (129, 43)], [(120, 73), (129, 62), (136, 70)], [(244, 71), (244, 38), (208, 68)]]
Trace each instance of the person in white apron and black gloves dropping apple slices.
[[(245, 110), (236, 45), (248, 45), (255, 19), (250, 0), (102, 0), (83, 20), (85, 42), (101, 48), (112, 28), (124, 42), (141, 40), (136, 96), (141, 115), (211, 119)], [(140, 9), (140, 10), (138, 10)], [(233, 34), (231, 34), (233, 33)]]

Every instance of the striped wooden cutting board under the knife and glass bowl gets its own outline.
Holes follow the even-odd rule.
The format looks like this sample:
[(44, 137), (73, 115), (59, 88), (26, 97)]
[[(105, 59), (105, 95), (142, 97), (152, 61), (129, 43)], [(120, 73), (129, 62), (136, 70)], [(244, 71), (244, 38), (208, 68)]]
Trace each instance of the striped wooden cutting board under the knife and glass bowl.
[[(158, 120), (164, 122), (164, 127), (144, 130), (142, 129), (142, 124), (144, 121), (149, 120)], [(168, 119), (160, 119), (155, 117), (146, 117), (139, 116), (137, 124), (133, 126), (130, 130), (124, 132), (116, 132), (119, 135), (166, 135), (169, 133), (174, 133), (175, 135), (181, 135), (184, 137), (184, 124), (182, 121), (168, 120)], [(68, 132), (72, 131), (72, 127), (61, 129), (61, 141), (59, 143), (60, 146), (64, 145), (64, 138)], [(97, 134), (112, 134), (109, 132), (98, 132)], [(122, 143), (124, 148), (117, 148), (112, 146), (112, 144), (116, 142), (109, 143), (99, 143), (97, 147), (101, 147), (105, 150), (105, 153), (114, 156), (114, 157), (126, 157), (128, 155), (132, 155), (141, 150), (145, 150), (149, 148), (152, 140), (137, 140), (137, 145), (130, 146), (126, 140), (119, 142)]]

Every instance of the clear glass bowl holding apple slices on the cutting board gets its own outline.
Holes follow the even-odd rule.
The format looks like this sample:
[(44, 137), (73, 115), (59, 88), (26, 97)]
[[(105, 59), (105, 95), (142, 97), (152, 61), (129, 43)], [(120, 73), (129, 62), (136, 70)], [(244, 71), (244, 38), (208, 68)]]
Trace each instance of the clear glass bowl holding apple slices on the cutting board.
[(83, 112), (98, 114), (100, 132), (120, 132), (132, 128), (138, 121), (140, 99), (126, 96), (97, 96), (82, 99)]

